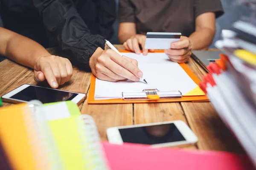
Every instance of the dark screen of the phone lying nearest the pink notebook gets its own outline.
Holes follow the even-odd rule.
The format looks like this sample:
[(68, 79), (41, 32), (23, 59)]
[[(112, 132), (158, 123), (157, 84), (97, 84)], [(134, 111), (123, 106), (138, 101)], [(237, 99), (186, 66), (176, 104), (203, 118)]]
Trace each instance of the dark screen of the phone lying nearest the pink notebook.
[(123, 142), (161, 144), (186, 141), (174, 123), (119, 129)]

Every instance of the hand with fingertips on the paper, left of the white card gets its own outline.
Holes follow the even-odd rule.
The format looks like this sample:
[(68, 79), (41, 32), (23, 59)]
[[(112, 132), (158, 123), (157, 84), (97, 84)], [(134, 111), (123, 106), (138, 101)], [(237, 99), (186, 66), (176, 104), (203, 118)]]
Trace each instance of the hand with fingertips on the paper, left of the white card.
[(136, 34), (123, 43), (126, 50), (140, 54), (140, 45), (142, 47), (143, 55), (147, 55), (148, 51), (154, 52), (154, 49), (145, 49), (146, 36)]

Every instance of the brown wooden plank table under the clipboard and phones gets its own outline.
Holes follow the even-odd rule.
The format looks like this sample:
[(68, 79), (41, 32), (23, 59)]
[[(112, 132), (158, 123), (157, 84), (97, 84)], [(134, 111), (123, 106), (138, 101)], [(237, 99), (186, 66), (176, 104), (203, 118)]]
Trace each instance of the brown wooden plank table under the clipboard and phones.
[[(122, 45), (116, 45), (116, 47), (123, 49)], [(56, 52), (52, 49), (49, 51), (52, 54)], [(190, 59), (187, 65), (200, 79), (205, 74), (194, 60)], [(0, 62), (0, 96), (23, 84), (37, 85), (33, 76), (31, 69), (8, 59)], [(47, 86), (44, 83), (40, 85)], [(90, 73), (74, 68), (72, 79), (59, 89), (87, 93), (89, 85)], [(3, 103), (3, 105), (11, 104)], [(210, 102), (88, 105), (85, 100), (79, 108), (82, 114), (93, 116), (102, 141), (107, 140), (108, 127), (182, 120), (198, 136), (198, 143), (189, 148), (244, 153)]]

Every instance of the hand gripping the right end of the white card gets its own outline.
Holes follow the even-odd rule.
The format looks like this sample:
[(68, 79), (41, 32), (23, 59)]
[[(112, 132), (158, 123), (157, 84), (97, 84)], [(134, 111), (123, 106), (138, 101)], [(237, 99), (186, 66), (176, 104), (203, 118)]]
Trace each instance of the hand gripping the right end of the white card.
[(178, 63), (187, 62), (191, 56), (191, 51), (191, 42), (188, 37), (184, 36), (180, 37), (180, 41), (173, 42), (170, 49), (164, 50), (169, 59)]

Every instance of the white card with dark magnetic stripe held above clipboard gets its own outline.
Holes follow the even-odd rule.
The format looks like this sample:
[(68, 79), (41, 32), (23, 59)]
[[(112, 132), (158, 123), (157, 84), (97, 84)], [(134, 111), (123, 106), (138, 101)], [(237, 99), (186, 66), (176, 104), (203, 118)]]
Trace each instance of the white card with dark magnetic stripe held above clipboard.
[(180, 40), (181, 33), (148, 32), (145, 42), (146, 49), (169, 49), (171, 43)]

